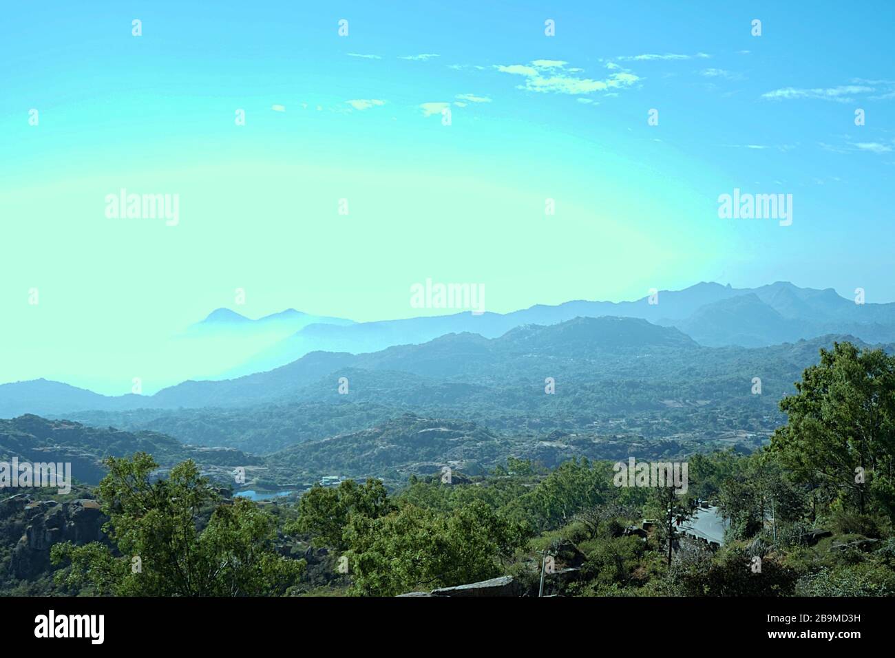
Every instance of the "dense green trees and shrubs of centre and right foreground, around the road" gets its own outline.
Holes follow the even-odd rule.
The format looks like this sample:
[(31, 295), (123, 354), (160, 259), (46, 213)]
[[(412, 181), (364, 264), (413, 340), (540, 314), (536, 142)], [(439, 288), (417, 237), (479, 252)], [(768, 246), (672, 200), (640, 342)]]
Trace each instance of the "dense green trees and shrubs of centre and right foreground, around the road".
[[(670, 487), (610, 487), (609, 463), (587, 459), (545, 472), (509, 457), (450, 484), (414, 476), (379, 496), (372, 514), (319, 491), (315, 500), (329, 504), (303, 506), (297, 526), (314, 534), (330, 523), (311, 541), (344, 551), (354, 594), (507, 573), (531, 585), (544, 550), (571, 567), (552, 585), (567, 594), (895, 594), (893, 375), (895, 359), (882, 351), (834, 345), (781, 401), (789, 422), (768, 449), (694, 456), (689, 493), (729, 520), (717, 551), (678, 530), (694, 499)], [(354, 485), (342, 486), (353, 495)], [(661, 522), (644, 532), (644, 517)]]

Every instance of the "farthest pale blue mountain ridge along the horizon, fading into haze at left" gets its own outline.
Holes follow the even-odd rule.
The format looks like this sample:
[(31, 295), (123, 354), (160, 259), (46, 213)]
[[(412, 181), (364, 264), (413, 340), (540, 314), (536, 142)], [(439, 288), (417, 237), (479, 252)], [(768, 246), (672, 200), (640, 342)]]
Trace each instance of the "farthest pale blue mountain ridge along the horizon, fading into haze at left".
[[(141, 406), (231, 405), (237, 397), (243, 399), (243, 404), (254, 404), (269, 399), (264, 392), (265, 385), (260, 382), (279, 378), (281, 389), (291, 387), (290, 390), (297, 391), (319, 380), (321, 372), (390, 358), (389, 355), (395, 354), (388, 352), (391, 347), (422, 346), (438, 338), (468, 334), (480, 337), (478, 343), (466, 338), (451, 338), (453, 347), (448, 346), (447, 342), (435, 343), (426, 348), (426, 354), (429, 357), (434, 355), (439, 346), (442, 349), (462, 346), (467, 352), (471, 349), (481, 350), (482, 346), (488, 345), (483, 341), (500, 338), (515, 329), (557, 326), (580, 317), (625, 317), (632, 331), (638, 326), (643, 328), (643, 325), (630, 324), (630, 320), (640, 320), (652, 326), (673, 328), (699, 345), (712, 347), (751, 348), (844, 334), (870, 344), (895, 341), (895, 303), (857, 304), (841, 297), (832, 288), (800, 288), (788, 281), (776, 281), (757, 288), (734, 288), (702, 281), (678, 291), (659, 291), (652, 301), (657, 303), (650, 303), (651, 297), (647, 295), (634, 302), (574, 300), (557, 305), (535, 304), (528, 309), (506, 314), (485, 312), (476, 316), (461, 312), (374, 322), (335, 319), (342, 324), (316, 321), (326, 318), (295, 309), (251, 320), (238, 312), (221, 308), (211, 312), (206, 320), (222, 320), (225, 334), (241, 335), (243, 327), (260, 328), (260, 331), (266, 332), (268, 329), (265, 328), (269, 327), (275, 328), (269, 336), (276, 342), (272, 347), (254, 353), (243, 366), (231, 369), (225, 366), (213, 377), (187, 377), (159, 389), (153, 396), (106, 396), (63, 382), (40, 379), (0, 384), (0, 416), (28, 411), (60, 414), (90, 409), (125, 410)], [(292, 324), (294, 322), (297, 325)], [(229, 329), (231, 326), (237, 328), (234, 329), (235, 333)], [(300, 326), (300, 329), (293, 330), (295, 326)], [(212, 339), (217, 336), (217, 329), (212, 327), (210, 333), (207, 329), (200, 328), (192, 334), (192, 339), (201, 341), (197, 347), (204, 343), (205, 337), (209, 337), (209, 346), (214, 345)], [(246, 330), (251, 332), (256, 329)], [(570, 328), (563, 330), (571, 331)], [(569, 334), (571, 337), (572, 334)], [(602, 339), (610, 340), (608, 335)], [(231, 345), (225, 342), (215, 349)], [(405, 350), (402, 354), (407, 359), (412, 358), (409, 355), (413, 352)], [(314, 356), (302, 361), (306, 355)], [(416, 357), (422, 358), (421, 355)], [(439, 367), (447, 372), (456, 371), (456, 366), (444, 360)], [(286, 370), (280, 370), (283, 368)], [(245, 377), (254, 379), (243, 380)], [(235, 385), (234, 380), (238, 380)], [(228, 390), (231, 392), (227, 393)]]

